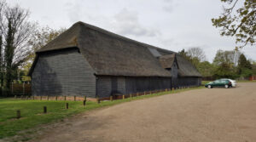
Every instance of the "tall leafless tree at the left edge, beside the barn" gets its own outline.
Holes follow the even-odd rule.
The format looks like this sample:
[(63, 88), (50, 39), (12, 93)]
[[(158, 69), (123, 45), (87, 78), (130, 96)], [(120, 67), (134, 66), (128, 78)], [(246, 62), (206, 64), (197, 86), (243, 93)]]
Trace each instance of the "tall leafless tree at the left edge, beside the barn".
[(3, 33), (5, 81), (6, 88), (9, 89), (10, 82), (14, 79), (13, 74), (31, 52), (26, 43), (32, 36), (35, 25), (28, 22), (28, 10), (21, 9), (18, 5), (15, 7), (7, 5), (1, 15), (0, 30)]

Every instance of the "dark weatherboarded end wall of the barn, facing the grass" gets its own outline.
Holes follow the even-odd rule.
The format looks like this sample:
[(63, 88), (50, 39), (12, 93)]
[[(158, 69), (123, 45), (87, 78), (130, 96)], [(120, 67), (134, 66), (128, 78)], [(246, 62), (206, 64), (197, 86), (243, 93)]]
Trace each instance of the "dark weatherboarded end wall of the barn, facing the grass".
[(96, 96), (96, 77), (78, 49), (39, 54), (32, 72), (33, 95)]

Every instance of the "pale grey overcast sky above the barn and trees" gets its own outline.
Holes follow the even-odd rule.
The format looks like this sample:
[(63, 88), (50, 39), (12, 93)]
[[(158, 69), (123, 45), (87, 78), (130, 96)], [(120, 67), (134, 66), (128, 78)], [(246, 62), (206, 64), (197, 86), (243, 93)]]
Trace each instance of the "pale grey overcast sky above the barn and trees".
[[(77, 21), (159, 48), (180, 51), (200, 47), (212, 62), (218, 49), (232, 50), (231, 37), (219, 36), (212, 18), (222, 12), (220, 0), (8, 0), (31, 11), (30, 20), (54, 29)], [(241, 50), (256, 60), (256, 47)]]

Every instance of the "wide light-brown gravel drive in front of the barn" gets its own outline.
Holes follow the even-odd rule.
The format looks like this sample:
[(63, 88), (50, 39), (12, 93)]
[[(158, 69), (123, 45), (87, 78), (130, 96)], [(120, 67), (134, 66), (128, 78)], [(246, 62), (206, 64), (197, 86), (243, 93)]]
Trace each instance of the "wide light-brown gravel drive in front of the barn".
[(253, 142), (256, 140), (256, 83), (203, 88), (90, 111), (37, 142)]

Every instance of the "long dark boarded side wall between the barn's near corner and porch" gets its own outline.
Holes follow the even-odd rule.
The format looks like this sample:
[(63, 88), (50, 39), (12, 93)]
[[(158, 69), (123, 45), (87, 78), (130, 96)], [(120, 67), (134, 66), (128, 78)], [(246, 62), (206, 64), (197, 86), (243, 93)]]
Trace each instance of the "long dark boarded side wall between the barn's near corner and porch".
[(97, 76), (96, 81), (96, 92), (100, 98), (109, 97), (112, 94), (133, 94), (171, 88), (171, 78), (166, 77)]

